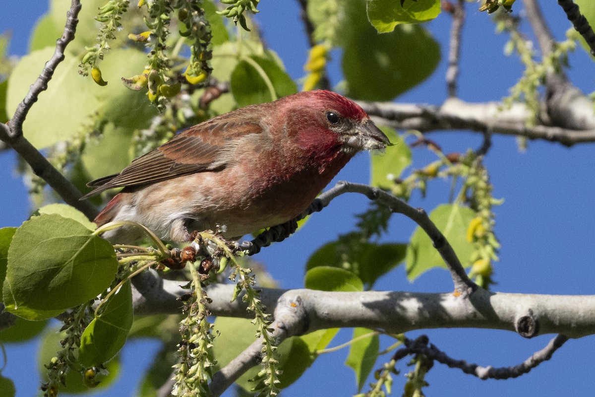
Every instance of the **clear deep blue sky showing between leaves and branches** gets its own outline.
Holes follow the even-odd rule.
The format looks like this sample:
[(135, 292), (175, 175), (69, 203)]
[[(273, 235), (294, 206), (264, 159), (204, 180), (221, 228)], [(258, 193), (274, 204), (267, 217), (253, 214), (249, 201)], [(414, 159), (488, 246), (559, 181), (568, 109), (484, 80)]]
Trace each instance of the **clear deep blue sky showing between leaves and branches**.
[[(569, 23), (555, 2), (541, 2), (547, 21), (556, 37), (562, 39)], [(547, 4), (546, 4), (547, 3)], [(494, 35), (494, 25), (487, 14), (475, 11), (475, 4), (467, 4), (468, 20), (464, 29), (462, 46), (462, 69), (459, 80), (459, 96), (465, 101), (498, 101), (508, 95), (522, 73), (520, 62), (515, 57), (503, 55), (506, 36)], [(27, 52), (29, 32), (37, 18), (45, 12), (45, 1), (8, 1), (0, 5), (0, 31), (12, 30), (10, 53), (23, 55)], [(278, 52), (286, 68), (294, 78), (303, 76), (302, 62), (307, 53), (307, 43), (299, 20), (296, 1), (263, 0), (256, 21), (261, 24), (265, 40)], [(513, 7), (515, 12), (520, 5)], [(281, 18), (280, 15), (283, 15)], [(438, 70), (422, 85), (397, 98), (400, 102), (424, 102), (440, 104), (446, 98), (447, 37), (450, 17), (440, 15), (428, 24), (434, 37), (441, 44), (443, 59)], [(526, 26), (524, 26), (526, 28)], [(525, 31), (527, 31), (525, 29)], [(331, 81), (340, 81), (340, 54), (331, 64)], [(406, 54), (403, 54), (406, 57)], [(593, 91), (593, 68), (595, 65), (582, 49), (571, 56), (568, 74), (584, 92)], [(486, 74), (490, 77), (486, 78)], [(65, 126), (67, 128), (68, 126)], [(477, 148), (481, 136), (469, 132), (436, 132), (430, 137), (436, 140), (445, 152), (464, 152)], [(494, 196), (505, 198), (496, 208), (496, 235), (502, 243), (500, 262), (495, 265), (497, 285), (494, 290), (519, 293), (550, 293), (592, 295), (595, 293), (594, 260), (595, 212), (593, 211), (593, 147), (580, 145), (565, 148), (555, 143), (530, 142), (526, 152), (519, 152), (515, 139), (496, 136), (486, 157), (494, 186)], [(422, 167), (434, 160), (423, 149), (414, 149), (415, 165)], [(15, 155), (10, 151), (0, 153), (0, 227), (18, 226), (30, 213), (26, 189), (14, 177)], [(358, 155), (336, 180), (368, 182), (369, 159)], [(336, 180), (334, 182), (336, 182)], [(333, 183), (334, 183), (333, 182)], [(428, 198), (412, 198), (411, 204), (430, 211), (448, 199), (449, 183), (436, 180), (428, 186)], [(352, 214), (367, 208), (363, 196), (342, 196), (330, 207), (316, 214), (308, 224), (290, 239), (264, 249), (256, 257), (267, 265), (268, 271), (286, 288), (303, 286), (303, 268), (309, 255), (322, 242), (336, 239), (339, 233), (350, 230), (355, 224)], [(407, 218), (394, 216), (390, 223), (387, 241), (405, 241), (411, 236), (415, 225)], [(452, 290), (449, 274), (432, 270), (423, 274), (414, 283), (409, 283), (402, 267), (377, 284), (377, 289), (408, 290), (419, 292), (448, 292)], [(541, 349), (550, 335), (531, 340), (511, 332), (490, 330), (422, 330), (409, 333), (415, 337), (425, 333), (430, 341), (452, 357), (463, 358), (481, 365), (514, 365), (524, 361), (534, 351)], [(349, 339), (349, 332), (342, 332), (332, 344)], [(35, 354), (38, 341), (21, 345), (7, 345), (8, 365), (2, 374), (14, 380), (17, 396), (35, 394), (39, 376)], [(387, 342), (384, 341), (384, 347)], [(117, 385), (98, 392), (96, 396), (127, 396), (140, 382), (143, 368), (152, 360), (156, 344), (150, 341), (135, 341), (123, 351), (123, 375)], [(587, 352), (595, 351), (595, 338), (584, 337), (570, 340), (552, 360), (531, 371), (530, 374), (508, 381), (481, 381), (466, 376), (458, 370), (435, 365), (427, 376), (431, 387), (427, 396), (462, 396), (481, 394), (484, 397), (502, 395), (590, 395), (594, 364)], [(303, 395), (350, 395), (355, 393), (352, 370), (343, 365), (346, 350), (322, 355), (306, 371), (305, 376), (289, 389), (287, 397)], [(377, 366), (379, 367), (379, 361)], [(407, 370), (405, 362), (399, 367)], [(394, 377), (393, 395), (399, 396), (403, 376)]]

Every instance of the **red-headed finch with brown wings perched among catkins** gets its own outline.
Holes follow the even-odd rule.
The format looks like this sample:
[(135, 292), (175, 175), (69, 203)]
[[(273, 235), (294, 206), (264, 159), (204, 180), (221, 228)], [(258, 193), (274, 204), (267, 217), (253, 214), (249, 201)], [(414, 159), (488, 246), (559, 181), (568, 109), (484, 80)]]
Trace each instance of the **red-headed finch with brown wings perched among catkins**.
[[(118, 174), (92, 180), (82, 199), (123, 189), (97, 215), (134, 221), (159, 238), (188, 242), (219, 230), (237, 240), (292, 220), (358, 152), (391, 145), (355, 102), (312, 90), (230, 111), (174, 136)], [(130, 226), (102, 234), (131, 243)]]

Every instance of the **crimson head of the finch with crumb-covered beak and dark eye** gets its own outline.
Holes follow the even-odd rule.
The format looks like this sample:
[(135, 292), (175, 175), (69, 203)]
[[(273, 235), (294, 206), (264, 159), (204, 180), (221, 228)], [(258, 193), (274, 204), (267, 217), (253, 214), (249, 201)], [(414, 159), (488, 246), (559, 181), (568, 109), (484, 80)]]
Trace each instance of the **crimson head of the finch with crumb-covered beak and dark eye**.
[(283, 104), (289, 111), (286, 131), (299, 132), (297, 138), (308, 146), (320, 145), (324, 149), (328, 145), (339, 144), (341, 151), (353, 155), (391, 145), (368, 114), (345, 96), (327, 90), (314, 90), (286, 98), (290, 98), (287, 104)]

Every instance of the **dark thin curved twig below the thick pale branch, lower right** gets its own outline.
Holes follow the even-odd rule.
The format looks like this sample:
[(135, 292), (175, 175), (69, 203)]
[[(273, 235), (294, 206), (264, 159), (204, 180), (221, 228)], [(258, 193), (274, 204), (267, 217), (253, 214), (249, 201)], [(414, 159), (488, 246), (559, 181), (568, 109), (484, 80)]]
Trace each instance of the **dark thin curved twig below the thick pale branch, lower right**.
[(491, 365), (488, 367), (481, 367), (481, 365), (469, 364), (465, 360), (455, 360), (450, 358), (443, 351), (440, 351), (436, 346), (431, 344), (428, 346), (427, 336), (421, 336), (415, 340), (406, 339), (405, 342), (403, 342), (406, 347), (397, 350), (393, 359), (400, 360), (406, 355), (420, 353), (432, 360), (440, 362), (441, 364), (446, 364), (450, 368), (459, 368), (464, 373), (477, 376), (480, 379), (510, 379), (526, 374), (537, 367), (537, 365), (541, 364), (541, 362), (552, 358), (554, 352), (558, 350), (566, 340), (568, 340), (568, 336), (560, 334), (556, 335), (543, 349), (535, 352), (531, 357), (527, 358), (527, 360), (521, 362), (521, 364), (512, 367), (494, 368), (491, 367)]

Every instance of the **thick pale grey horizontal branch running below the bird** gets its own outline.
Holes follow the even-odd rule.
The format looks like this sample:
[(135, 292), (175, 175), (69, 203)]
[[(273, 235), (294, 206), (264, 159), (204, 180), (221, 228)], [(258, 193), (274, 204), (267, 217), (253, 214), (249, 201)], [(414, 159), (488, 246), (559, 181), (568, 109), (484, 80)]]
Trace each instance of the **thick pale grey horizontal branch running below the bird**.
[[(134, 314), (179, 313), (181, 304), (175, 296), (183, 295), (187, 290), (180, 288), (180, 282), (171, 280), (164, 280), (161, 288), (171, 295), (171, 301), (154, 300), (151, 305), (146, 305), (134, 295)], [(230, 302), (234, 288), (235, 285), (224, 284), (206, 287), (206, 293), (212, 299), (207, 305), (208, 310), (215, 316), (252, 318), (241, 295)], [(158, 289), (151, 291), (162, 293)], [(595, 335), (595, 295), (537, 295), (477, 289), (464, 298), (452, 292), (326, 292), (262, 288), (262, 303), (271, 311), (276, 309), (281, 296), (289, 301), (301, 299), (300, 305), (307, 317), (307, 332), (367, 327), (403, 333), (472, 327), (508, 330), (524, 337), (548, 333), (562, 333), (572, 338)]]

